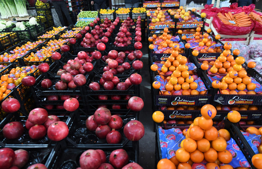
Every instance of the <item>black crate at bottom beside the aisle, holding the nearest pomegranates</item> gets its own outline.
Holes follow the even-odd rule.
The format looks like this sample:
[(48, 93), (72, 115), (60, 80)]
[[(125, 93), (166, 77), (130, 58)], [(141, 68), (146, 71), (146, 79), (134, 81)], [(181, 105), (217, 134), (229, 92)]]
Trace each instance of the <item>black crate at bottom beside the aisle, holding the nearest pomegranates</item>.
[[(48, 158), (48, 162), (46, 163), (46, 167), (48, 169), (51, 168), (61, 168), (61, 169), (74, 169), (80, 167), (79, 159), (82, 153), (88, 149), (101, 149), (106, 153), (106, 162), (109, 163), (109, 156), (113, 150), (118, 148), (89, 148), (89, 147), (81, 147), (74, 148), (68, 147), (65, 142), (58, 143), (55, 149), (51, 152), (50, 158)], [(138, 163), (139, 156), (139, 145), (136, 143), (132, 148), (123, 148), (127, 151), (129, 156), (129, 162)]]

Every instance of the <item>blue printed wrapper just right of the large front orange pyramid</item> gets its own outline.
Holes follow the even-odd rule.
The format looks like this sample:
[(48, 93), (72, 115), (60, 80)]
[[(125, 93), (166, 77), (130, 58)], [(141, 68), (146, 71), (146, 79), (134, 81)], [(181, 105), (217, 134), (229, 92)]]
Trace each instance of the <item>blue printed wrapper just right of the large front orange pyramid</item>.
[(236, 141), (234, 139), (230, 139), (227, 141), (227, 148), (226, 148), (231, 154), (232, 154), (232, 161), (228, 163), (232, 167), (250, 167), (250, 164), (248, 163), (247, 159), (245, 158), (243, 152), (239, 149)]

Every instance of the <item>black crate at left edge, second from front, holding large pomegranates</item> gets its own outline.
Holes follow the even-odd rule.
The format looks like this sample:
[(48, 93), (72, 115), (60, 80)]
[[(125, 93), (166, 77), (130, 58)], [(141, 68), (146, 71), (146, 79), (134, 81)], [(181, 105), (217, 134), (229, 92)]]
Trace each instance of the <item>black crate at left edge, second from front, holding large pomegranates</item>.
[[(4, 125), (6, 125), (9, 122), (13, 122), (13, 121), (19, 121), (23, 124), (23, 126), (25, 126), (25, 122), (27, 119), (28, 119), (27, 116), (19, 116), (18, 114), (15, 114), (15, 113), (8, 114), (8, 116), (0, 123), (0, 128), (2, 129)], [(69, 124), (70, 117), (59, 116), (59, 119), (60, 121), (67, 123), (67, 125), (70, 125)], [(24, 127), (23, 135), (20, 138), (14, 139), (14, 140), (9, 140), (9, 139), (4, 138), (2, 130), (1, 130), (0, 131), (0, 140), (1, 140), (0, 145), (2, 147), (9, 147), (9, 148), (19, 147), (21, 149), (23, 148), (47, 148), (47, 147), (50, 147), (52, 144), (54, 145), (56, 143), (48, 139), (47, 135), (39, 140), (31, 139), (29, 137), (29, 130), (27, 130), (25, 127)]]

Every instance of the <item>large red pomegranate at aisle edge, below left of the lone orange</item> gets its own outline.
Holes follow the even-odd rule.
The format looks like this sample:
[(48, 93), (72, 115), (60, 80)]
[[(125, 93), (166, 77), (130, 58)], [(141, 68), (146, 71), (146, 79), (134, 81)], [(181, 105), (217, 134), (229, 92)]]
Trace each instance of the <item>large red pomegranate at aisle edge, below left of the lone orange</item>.
[(131, 141), (140, 140), (145, 134), (145, 128), (140, 121), (131, 120), (124, 127), (124, 134)]

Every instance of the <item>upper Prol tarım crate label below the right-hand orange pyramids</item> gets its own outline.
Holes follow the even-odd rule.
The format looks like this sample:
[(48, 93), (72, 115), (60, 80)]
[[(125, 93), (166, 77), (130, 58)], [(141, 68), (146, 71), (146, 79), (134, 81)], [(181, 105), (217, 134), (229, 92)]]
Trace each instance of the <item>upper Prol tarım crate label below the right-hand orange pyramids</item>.
[(223, 105), (236, 105), (236, 104), (254, 104), (260, 105), (262, 104), (262, 95), (224, 95), (224, 94), (215, 94), (214, 101), (221, 103)]

